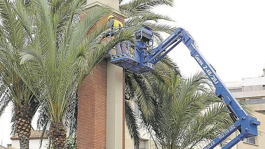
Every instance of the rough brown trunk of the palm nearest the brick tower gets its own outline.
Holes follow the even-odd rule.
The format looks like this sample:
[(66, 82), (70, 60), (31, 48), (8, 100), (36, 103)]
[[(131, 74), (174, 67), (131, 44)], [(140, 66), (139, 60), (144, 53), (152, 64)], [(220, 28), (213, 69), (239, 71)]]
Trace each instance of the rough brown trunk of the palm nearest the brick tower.
[(63, 122), (52, 123), (50, 137), (54, 149), (62, 149), (66, 142), (66, 132)]

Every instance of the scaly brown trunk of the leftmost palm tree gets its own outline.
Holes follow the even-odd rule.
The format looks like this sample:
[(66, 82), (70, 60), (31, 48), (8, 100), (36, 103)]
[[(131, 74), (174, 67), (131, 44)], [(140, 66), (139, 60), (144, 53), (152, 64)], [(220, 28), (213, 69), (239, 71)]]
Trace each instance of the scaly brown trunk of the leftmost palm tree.
[(32, 120), (29, 107), (24, 104), (15, 106), (15, 119), (20, 149), (29, 149)]

